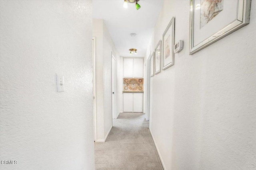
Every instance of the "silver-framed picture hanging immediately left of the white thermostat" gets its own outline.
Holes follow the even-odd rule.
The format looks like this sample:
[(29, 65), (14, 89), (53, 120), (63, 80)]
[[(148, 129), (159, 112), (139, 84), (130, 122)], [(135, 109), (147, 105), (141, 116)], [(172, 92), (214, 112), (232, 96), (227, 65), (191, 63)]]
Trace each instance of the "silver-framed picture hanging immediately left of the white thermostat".
[(166, 68), (172, 66), (174, 64), (174, 21), (175, 18), (172, 17), (172, 20), (168, 24), (167, 28), (165, 29), (163, 33), (163, 42), (162, 42), (162, 48), (163, 48), (163, 57), (162, 57), (162, 63), (163, 63), (163, 70)]

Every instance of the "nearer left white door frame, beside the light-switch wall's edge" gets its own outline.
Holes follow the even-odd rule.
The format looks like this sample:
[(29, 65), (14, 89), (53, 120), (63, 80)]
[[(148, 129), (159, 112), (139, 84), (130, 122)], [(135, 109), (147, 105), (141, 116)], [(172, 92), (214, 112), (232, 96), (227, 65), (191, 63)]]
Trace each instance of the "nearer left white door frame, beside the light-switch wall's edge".
[(93, 129), (94, 142), (97, 141), (97, 111), (96, 111), (96, 37), (92, 37), (92, 88), (93, 88)]

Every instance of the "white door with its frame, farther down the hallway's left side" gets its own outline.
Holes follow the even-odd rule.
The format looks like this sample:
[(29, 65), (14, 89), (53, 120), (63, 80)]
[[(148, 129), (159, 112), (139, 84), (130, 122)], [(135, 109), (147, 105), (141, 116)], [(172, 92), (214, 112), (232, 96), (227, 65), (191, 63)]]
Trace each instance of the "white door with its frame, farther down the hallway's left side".
[[(113, 60), (114, 59), (114, 64)], [(114, 95), (112, 94), (112, 119), (116, 119), (116, 58), (113, 55), (112, 52), (112, 58), (111, 58), (112, 66), (111, 66), (111, 82), (112, 82), (112, 93), (114, 92)], [(114, 77), (113, 77), (113, 71), (114, 71)], [(114, 89), (113, 89), (113, 82), (114, 82)]]

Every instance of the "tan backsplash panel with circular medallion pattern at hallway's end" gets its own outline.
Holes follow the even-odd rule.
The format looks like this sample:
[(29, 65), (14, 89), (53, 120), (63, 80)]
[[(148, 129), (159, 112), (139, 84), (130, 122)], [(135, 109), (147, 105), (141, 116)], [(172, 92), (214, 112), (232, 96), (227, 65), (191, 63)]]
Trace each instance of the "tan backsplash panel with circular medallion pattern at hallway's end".
[(124, 78), (124, 93), (143, 93), (143, 78)]

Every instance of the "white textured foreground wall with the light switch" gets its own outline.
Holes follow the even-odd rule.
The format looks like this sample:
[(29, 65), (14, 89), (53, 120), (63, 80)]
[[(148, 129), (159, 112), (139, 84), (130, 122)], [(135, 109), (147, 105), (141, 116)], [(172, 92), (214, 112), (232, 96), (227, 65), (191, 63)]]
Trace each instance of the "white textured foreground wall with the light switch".
[(92, 2), (0, 6), (1, 169), (94, 170)]

